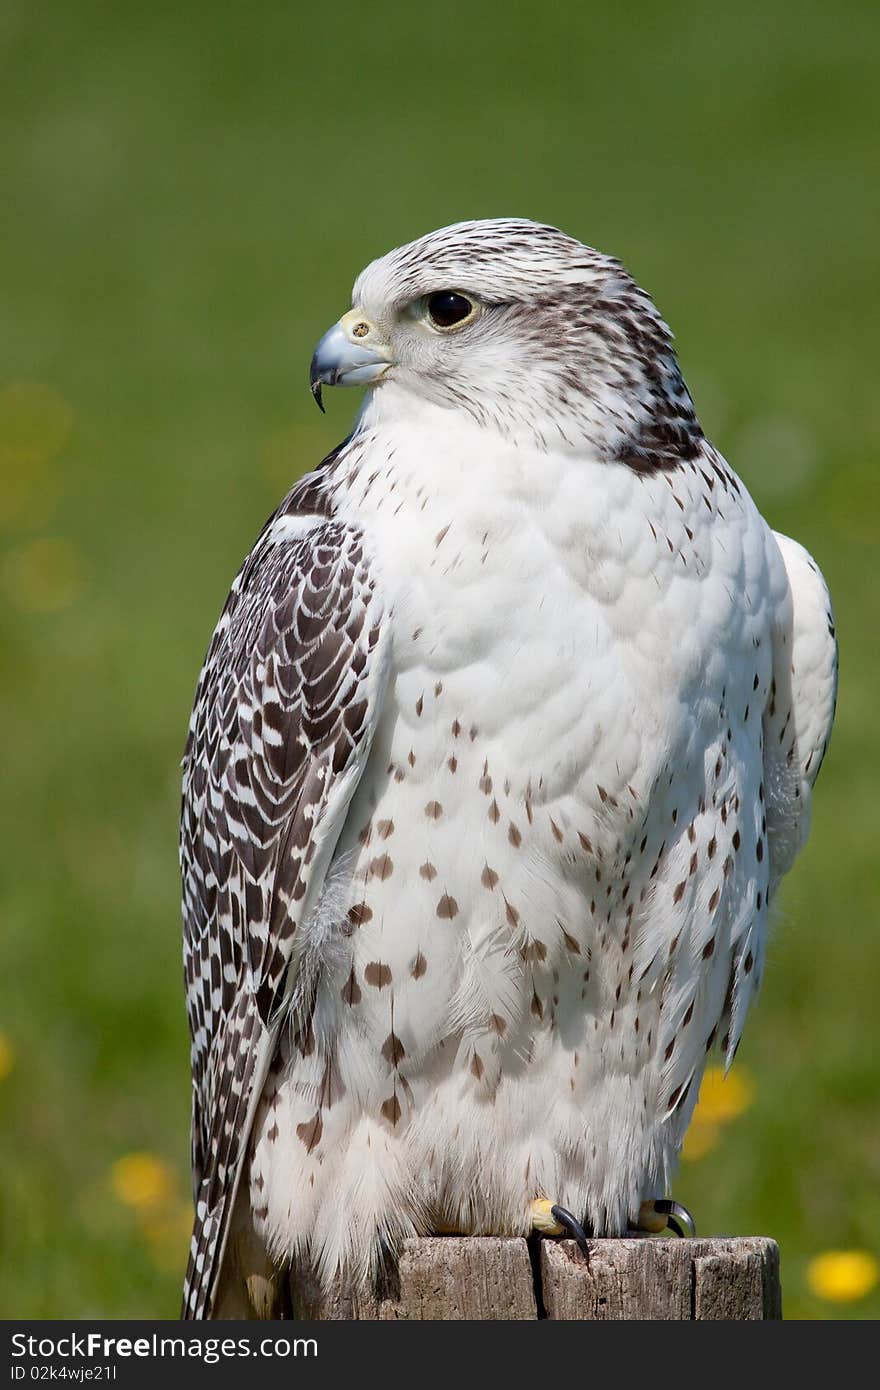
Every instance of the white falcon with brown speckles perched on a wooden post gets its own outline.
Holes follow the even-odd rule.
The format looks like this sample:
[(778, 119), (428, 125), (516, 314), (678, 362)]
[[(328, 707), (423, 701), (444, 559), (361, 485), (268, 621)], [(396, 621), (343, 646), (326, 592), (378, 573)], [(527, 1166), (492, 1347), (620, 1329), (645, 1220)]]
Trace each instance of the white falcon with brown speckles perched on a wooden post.
[(619, 260), (434, 231), (310, 385), (366, 395), (239, 570), (184, 758), (185, 1318), (425, 1233), (690, 1229), (834, 717), (819, 567)]

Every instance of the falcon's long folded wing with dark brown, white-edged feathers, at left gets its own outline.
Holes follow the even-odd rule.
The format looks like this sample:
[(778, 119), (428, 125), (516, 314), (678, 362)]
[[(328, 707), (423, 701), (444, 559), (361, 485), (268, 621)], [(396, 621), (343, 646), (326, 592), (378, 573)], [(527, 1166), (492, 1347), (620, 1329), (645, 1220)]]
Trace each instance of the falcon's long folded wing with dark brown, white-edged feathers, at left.
[(386, 624), (320, 474), (270, 518), (211, 639), (184, 758), (184, 966), (196, 1219), (184, 1316), (210, 1316), (253, 1113), (361, 776)]

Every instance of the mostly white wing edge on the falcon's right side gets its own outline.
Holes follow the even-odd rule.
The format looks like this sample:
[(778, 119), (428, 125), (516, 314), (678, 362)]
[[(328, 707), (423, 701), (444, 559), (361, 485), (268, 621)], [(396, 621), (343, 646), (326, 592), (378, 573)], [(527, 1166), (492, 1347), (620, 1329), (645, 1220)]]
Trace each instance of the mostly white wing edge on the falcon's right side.
[(763, 717), (770, 894), (809, 834), (837, 702), (837, 639), (826, 582), (802, 545), (774, 532), (787, 591), (773, 630), (773, 682)]

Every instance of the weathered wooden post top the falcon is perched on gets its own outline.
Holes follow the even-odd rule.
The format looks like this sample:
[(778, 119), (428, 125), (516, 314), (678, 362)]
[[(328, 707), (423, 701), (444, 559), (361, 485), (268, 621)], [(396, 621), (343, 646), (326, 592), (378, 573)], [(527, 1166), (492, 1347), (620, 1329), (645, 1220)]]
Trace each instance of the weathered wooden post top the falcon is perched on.
[(321, 1293), (295, 1270), (298, 1319), (751, 1322), (781, 1318), (779, 1247), (763, 1236), (574, 1241), (500, 1236), (407, 1240), (375, 1289)]

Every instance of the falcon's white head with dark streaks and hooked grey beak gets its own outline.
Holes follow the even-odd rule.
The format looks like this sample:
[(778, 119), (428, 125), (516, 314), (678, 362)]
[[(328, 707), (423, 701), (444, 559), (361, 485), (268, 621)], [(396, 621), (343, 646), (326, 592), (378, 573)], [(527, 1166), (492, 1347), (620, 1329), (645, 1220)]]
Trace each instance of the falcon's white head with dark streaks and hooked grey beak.
[[(521, 218), (457, 222), (373, 261), (324, 335), (311, 389), (464, 410), (507, 438), (637, 461), (699, 427), (649, 296), (621, 264)], [(646, 464), (649, 467), (649, 464)]]

